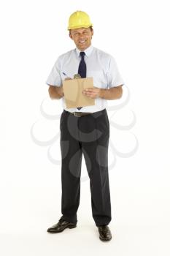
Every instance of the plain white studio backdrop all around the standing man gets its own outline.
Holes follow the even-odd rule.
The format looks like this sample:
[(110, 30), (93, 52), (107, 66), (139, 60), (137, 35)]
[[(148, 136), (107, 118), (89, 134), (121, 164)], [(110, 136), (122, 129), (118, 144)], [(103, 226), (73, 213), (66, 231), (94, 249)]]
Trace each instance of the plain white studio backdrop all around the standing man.
[[(132, 157), (115, 155), (109, 170), (107, 244), (93, 222), (89, 180), (81, 183), (77, 228), (46, 232), (61, 217), (61, 165), (50, 161), (49, 146), (31, 138), (35, 122), (39, 140), (54, 141), (59, 132), (59, 119), (42, 116), (40, 105), (45, 100), (46, 113), (61, 114), (61, 100), (49, 99), (45, 80), (57, 57), (74, 48), (66, 28), (76, 10), (88, 12), (93, 45), (115, 57), (130, 91), (115, 117), (108, 111), (110, 122), (128, 125), (131, 111), (136, 116), (131, 129), (110, 127), (117, 150), (131, 151), (135, 136), (139, 148)], [(169, 1), (6, 0), (0, 22), (1, 255), (169, 255)], [(51, 155), (60, 160), (60, 154), (56, 140)]]

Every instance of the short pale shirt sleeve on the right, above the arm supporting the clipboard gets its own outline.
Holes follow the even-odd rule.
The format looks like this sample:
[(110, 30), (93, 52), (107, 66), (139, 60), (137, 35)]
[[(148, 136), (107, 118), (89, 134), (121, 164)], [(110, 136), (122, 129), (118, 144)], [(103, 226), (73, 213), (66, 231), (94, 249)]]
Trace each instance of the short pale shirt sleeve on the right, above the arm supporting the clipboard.
[(123, 78), (120, 75), (115, 59), (111, 56), (107, 71), (107, 86), (112, 88), (121, 85), (124, 85)]

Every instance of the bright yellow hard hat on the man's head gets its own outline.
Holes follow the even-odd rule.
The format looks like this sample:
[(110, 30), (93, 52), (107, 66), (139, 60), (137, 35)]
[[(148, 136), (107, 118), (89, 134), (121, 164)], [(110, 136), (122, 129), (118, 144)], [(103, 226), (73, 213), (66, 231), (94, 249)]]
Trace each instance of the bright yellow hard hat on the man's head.
[(90, 18), (86, 12), (73, 12), (69, 18), (68, 29), (89, 28), (90, 26), (93, 26), (93, 24), (90, 22)]

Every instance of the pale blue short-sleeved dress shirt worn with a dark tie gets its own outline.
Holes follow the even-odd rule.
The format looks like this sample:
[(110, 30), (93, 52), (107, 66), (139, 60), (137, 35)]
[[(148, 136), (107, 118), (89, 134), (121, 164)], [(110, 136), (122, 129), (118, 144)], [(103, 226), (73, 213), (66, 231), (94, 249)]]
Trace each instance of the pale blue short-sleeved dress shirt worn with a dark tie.
[[(111, 55), (93, 47), (93, 45), (90, 45), (84, 52), (87, 67), (86, 77), (93, 78), (93, 86), (109, 89), (124, 84), (115, 59)], [(80, 50), (77, 48), (59, 56), (47, 78), (47, 85), (60, 87), (62, 86), (62, 80), (74, 78), (74, 75), (78, 73), (80, 59)], [(69, 112), (94, 113), (107, 108), (107, 99), (99, 97), (95, 99), (95, 105), (82, 107), (80, 110), (77, 108), (66, 108), (64, 97), (62, 97), (62, 103), (63, 108)]]

